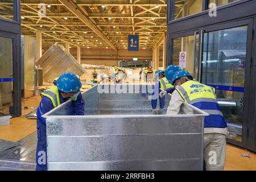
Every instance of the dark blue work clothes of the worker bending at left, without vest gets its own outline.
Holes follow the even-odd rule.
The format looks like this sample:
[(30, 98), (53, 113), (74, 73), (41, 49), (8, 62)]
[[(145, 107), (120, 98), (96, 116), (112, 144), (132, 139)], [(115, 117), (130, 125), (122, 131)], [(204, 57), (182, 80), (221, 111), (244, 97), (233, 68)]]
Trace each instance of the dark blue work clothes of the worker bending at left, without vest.
[[(62, 98), (59, 92), (60, 104), (69, 100), (69, 98)], [(84, 115), (85, 102), (80, 93), (75, 101), (72, 101), (70, 108), (67, 110), (67, 115)], [(46, 119), (42, 117), (43, 114), (54, 109), (50, 98), (42, 96), (42, 101), (38, 106), (36, 127), (38, 129), (38, 144), (36, 147), (36, 171), (47, 171), (47, 140), (46, 140)]]

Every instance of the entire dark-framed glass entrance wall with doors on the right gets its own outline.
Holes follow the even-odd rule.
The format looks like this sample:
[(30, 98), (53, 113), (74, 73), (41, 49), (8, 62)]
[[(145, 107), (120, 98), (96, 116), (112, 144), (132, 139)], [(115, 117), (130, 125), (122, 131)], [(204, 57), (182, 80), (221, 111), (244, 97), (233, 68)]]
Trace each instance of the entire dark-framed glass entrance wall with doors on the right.
[[(256, 0), (207, 0), (185, 16), (176, 11), (185, 1), (168, 2), (167, 65), (179, 65), (185, 52), (184, 68), (216, 89), (228, 143), (256, 151)], [(209, 3), (218, 6), (216, 17), (205, 11)]]

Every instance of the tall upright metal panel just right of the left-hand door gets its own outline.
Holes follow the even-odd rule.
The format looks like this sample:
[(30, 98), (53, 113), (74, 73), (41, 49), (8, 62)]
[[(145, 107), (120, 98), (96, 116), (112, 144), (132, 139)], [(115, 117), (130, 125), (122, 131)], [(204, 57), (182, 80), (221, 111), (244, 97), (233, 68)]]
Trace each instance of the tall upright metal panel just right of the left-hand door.
[(24, 98), (35, 96), (35, 40), (24, 36)]

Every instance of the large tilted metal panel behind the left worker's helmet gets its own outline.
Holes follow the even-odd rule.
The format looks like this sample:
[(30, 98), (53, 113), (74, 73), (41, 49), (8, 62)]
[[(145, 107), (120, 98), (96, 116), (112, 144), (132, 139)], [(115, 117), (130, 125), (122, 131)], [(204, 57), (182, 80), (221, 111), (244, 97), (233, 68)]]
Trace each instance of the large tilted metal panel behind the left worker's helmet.
[(81, 76), (85, 69), (77, 63), (76, 59), (63, 46), (54, 45), (38, 61), (36, 66), (43, 68), (43, 81), (53, 82), (64, 72), (72, 72)]

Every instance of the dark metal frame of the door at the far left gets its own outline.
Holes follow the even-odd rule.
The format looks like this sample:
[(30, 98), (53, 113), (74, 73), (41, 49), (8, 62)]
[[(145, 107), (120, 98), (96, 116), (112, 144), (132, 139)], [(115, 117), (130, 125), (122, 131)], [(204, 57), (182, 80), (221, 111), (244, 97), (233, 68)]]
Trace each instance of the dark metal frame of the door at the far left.
[(0, 31), (0, 37), (13, 40), (13, 109), (10, 110), (10, 115), (18, 116), (21, 113), (20, 36)]

